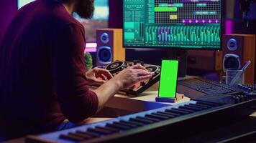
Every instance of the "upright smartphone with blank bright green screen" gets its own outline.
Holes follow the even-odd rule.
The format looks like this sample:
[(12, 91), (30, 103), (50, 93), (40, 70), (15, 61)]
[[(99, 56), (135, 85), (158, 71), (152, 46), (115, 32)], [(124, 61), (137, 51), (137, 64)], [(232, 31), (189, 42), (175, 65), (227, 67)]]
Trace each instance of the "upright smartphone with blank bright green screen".
[(163, 60), (158, 97), (175, 98), (178, 78), (178, 60)]

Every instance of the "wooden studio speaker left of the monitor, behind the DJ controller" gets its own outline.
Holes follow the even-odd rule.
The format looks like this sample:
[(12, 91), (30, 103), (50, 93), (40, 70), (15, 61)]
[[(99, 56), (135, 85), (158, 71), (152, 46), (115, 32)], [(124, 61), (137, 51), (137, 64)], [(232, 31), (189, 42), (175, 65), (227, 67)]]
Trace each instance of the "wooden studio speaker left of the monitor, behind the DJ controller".
[(125, 61), (122, 29), (97, 29), (97, 66), (106, 66), (116, 60)]

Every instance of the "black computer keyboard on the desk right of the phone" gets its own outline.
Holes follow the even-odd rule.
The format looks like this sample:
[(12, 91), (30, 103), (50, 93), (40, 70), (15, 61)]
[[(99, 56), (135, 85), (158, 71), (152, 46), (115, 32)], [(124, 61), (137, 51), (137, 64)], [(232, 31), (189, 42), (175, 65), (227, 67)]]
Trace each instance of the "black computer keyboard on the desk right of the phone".
[(233, 95), (233, 94), (239, 94), (239, 92), (242, 92), (242, 90), (239, 90), (235, 87), (230, 87), (227, 84), (221, 84), (219, 82), (215, 82), (215, 81), (211, 81), (209, 79), (203, 79), (203, 78), (185, 79), (185, 80), (179, 81), (178, 84), (183, 85), (184, 87), (194, 89), (198, 92), (202, 92), (207, 95), (213, 95), (213, 94)]

